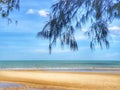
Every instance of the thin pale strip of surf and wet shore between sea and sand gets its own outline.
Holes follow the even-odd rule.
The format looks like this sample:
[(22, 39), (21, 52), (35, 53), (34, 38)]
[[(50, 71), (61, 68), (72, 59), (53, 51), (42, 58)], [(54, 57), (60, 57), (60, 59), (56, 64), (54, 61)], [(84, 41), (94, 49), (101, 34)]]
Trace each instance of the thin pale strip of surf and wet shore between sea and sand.
[(52, 72), (100, 72), (120, 74), (120, 68), (3, 68), (4, 70), (35, 70), (35, 71), (52, 71)]

